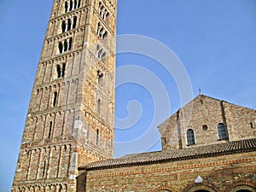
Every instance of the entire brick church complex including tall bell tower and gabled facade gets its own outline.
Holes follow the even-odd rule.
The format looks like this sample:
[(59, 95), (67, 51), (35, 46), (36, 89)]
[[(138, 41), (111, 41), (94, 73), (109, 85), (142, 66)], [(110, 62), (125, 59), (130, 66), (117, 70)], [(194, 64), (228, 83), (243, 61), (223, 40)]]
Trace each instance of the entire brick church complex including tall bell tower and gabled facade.
[(54, 0), (12, 191), (256, 192), (256, 111), (199, 95), (113, 158), (117, 0)]

